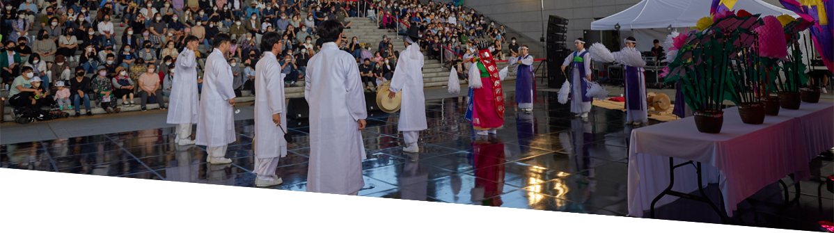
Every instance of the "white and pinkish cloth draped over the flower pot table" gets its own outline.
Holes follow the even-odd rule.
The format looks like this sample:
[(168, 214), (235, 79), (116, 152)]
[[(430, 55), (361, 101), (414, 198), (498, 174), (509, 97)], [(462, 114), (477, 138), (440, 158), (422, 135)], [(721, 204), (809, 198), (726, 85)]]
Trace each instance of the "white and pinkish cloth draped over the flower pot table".
[[(694, 117), (631, 131), (629, 216), (642, 217), (651, 208), (651, 201), (669, 186), (669, 157), (676, 158), (676, 164), (701, 162), (701, 186), (719, 184), (727, 216), (732, 216), (736, 204), (774, 181), (791, 173), (807, 176), (808, 152), (800, 121), (781, 113), (766, 117), (764, 124), (748, 125), (741, 122), (736, 107), (725, 109), (719, 134), (699, 132)], [(698, 188), (694, 166), (677, 168), (675, 178), (673, 191), (689, 193)], [(655, 207), (677, 198), (664, 196)], [(712, 201), (719, 204), (718, 200)]]

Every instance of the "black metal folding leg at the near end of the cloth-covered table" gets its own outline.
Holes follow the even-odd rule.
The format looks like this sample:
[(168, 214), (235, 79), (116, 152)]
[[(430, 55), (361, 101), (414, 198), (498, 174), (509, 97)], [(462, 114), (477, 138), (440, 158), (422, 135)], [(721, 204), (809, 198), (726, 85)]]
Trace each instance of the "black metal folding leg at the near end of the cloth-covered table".
[[(662, 191), (660, 195), (656, 196), (655, 200), (651, 201), (651, 209), (649, 210), (650, 211), (649, 215), (651, 216), (651, 226), (654, 226), (655, 228), (657, 228), (657, 223), (655, 221), (655, 205), (657, 204), (657, 201), (660, 201), (663, 196), (671, 195), (671, 196), (678, 196), (678, 197), (681, 197), (681, 198), (686, 198), (686, 199), (693, 200), (693, 201), (706, 202), (707, 204), (710, 205), (710, 207), (712, 207), (713, 211), (716, 211), (718, 216), (721, 216), (721, 223), (723, 223), (724, 227), (729, 227), (728, 222), (727, 222), (726, 214), (724, 212), (722, 212), (721, 209), (719, 209), (718, 206), (716, 206), (716, 204), (710, 200), (710, 198), (706, 197), (706, 192), (704, 192), (704, 187), (701, 186), (701, 184), (703, 183), (703, 180), (702, 180), (703, 178), (702, 178), (702, 174), (701, 174), (701, 162), (697, 162), (696, 165), (695, 165), (696, 173), (698, 174), (698, 192), (701, 193), (701, 196), (691, 196), (688, 193), (682, 193), (682, 192), (679, 192), (679, 191), (672, 191), (672, 187), (675, 186), (675, 168), (685, 166), (685, 165), (688, 165), (688, 164), (693, 164), (693, 163), (694, 163), (693, 161), (687, 161), (685, 163), (675, 165), (674, 158), (671, 158), (671, 157), (669, 158), (669, 178), (670, 178), (669, 179), (669, 186), (666, 187), (666, 190)], [(721, 191), (719, 191), (719, 192), (721, 192)]]

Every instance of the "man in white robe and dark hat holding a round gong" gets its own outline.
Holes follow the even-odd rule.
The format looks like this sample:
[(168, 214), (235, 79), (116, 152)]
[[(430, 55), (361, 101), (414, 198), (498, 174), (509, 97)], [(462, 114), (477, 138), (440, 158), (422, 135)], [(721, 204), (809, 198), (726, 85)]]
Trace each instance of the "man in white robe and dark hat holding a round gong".
[[(413, 28), (413, 29), (412, 29)], [(397, 129), (403, 131), (405, 144), (403, 151), (416, 153), (417, 139), (420, 131), (429, 128), (425, 121), (425, 96), (423, 95), (423, 53), (416, 42), (420, 41), (418, 27), (409, 27), (406, 34), (405, 51), (397, 61), (394, 77), (391, 78), (389, 98), (397, 92), (403, 92), (402, 105), (399, 108)]]

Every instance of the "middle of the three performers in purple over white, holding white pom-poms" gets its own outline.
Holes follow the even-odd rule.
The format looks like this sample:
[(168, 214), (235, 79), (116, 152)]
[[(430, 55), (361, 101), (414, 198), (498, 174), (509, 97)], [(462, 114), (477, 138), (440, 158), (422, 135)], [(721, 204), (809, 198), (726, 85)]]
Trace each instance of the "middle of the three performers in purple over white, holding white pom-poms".
[[(586, 118), (590, 112), (591, 97), (585, 97), (588, 92), (587, 83), (590, 81), (590, 54), (585, 51), (585, 42), (582, 38), (577, 38), (574, 41), (576, 52), (571, 53), (565, 57), (565, 62), (562, 63), (562, 72), (565, 72), (565, 67), (574, 64), (573, 77), (570, 81), (570, 112), (576, 113), (576, 117)], [(582, 81), (585, 78), (585, 81)]]

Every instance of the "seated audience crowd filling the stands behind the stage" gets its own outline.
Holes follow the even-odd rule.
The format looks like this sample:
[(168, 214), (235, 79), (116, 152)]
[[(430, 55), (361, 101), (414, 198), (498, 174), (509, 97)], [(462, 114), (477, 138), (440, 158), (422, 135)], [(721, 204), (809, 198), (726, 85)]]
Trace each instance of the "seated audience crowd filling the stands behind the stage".
[[(460, 1), (458, 1), (460, 2)], [(473, 42), (487, 40), (496, 57), (518, 52), (515, 38), (507, 40), (503, 25), (465, 10), (458, 3), (417, 0), (359, 2), (337, 0), (13, 0), (0, 2), (0, 33), (3, 47), (0, 71), (10, 90), (15, 109), (50, 107), (74, 109), (83, 103), (91, 115), (90, 101), (106, 112), (134, 106), (142, 110), (158, 102), (171, 89), (173, 66), (193, 35), (202, 42), (198, 49), (198, 86), (211, 44), (219, 33), (229, 34), (233, 47), (226, 54), (234, 74), (234, 91), (254, 95), (254, 66), (262, 57), (260, 37), (265, 32), (284, 35), (279, 63), (287, 74), (286, 87), (303, 81), (307, 61), (319, 52), (316, 27), (324, 20), (338, 20), (350, 28), (345, 17), (369, 17), (380, 29), (406, 32), (406, 25), (419, 27), (425, 41), (422, 51), (451, 67), (474, 53)], [(118, 29), (123, 28), (123, 29)], [(36, 32), (36, 33), (30, 33)], [(351, 53), (367, 92), (393, 76), (399, 37), (383, 36), (379, 42), (343, 38), (341, 49)], [(506, 45), (505, 45), (506, 43)], [(502, 52), (508, 47), (510, 53)], [(460, 57), (463, 56), (463, 57)], [(280, 59), (280, 58), (279, 58)], [(72, 65), (71, 65), (72, 64)], [(459, 64), (465, 79), (468, 64)], [(39, 86), (33, 86), (39, 80)], [(38, 89), (40, 88), (40, 89)], [(43, 91), (38, 91), (43, 90)], [(69, 90), (69, 93), (66, 93)], [(25, 93), (24, 93), (25, 92)], [(23, 93), (23, 94), (22, 94)], [(58, 93), (58, 95), (49, 95)], [(38, 97), (38, 95), (44, 97)], [(67, 96), (68, 95), (68, 96)], [(47, 101), (49, 99), (49, 101)]]

